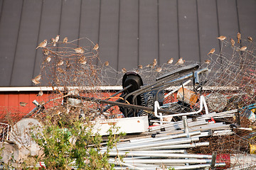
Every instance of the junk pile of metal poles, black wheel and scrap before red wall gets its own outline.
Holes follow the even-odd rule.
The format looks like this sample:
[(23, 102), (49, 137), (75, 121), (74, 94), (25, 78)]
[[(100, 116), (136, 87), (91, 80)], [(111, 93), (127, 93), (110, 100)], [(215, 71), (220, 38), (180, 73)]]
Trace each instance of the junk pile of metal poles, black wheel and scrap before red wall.
[[(255, 145), (248, 154), (220, 154), (214, 149), (211, 154), (191, 152), (198, 148), (207, 149), (211, 145), (210, 137), (253, 133), (252, 128), (243, 127), (241, 120), (255, 121), (252, 110), (256, 103), (240, 108), (238, 98), (209, 93), (210, 87), (204, 86), (207, 79), (201, 81), (200, 78), (209, 73), (208, 68), (199, 69), (198, 64), (190, 64), (157, 77), (151, 84), (144, 84), (137, 72), (126, 72), (122, 78), (122, 90), (109, 98), (103, 100), (70, 94), (63, 101), (69, 106), (83, 101), (99, 103), (103, 107), (98, 109), (98, 114), (106, 118), (94, 122), (95, 130), (100, 135), (108, 135), (110, 124), (115, 123), (118, 132), (127, 134), (110, 151), (110, 163), (115, 164), (114, 169), (159, 169), (163, 164), (174, 169), (254, 169)], [(115, 96), (118, 96), (116, 101), (110, 100)], [(10, 130), (9, 141), (22, 145), (16, 140), (15, 130), (38, 124), (31, 115), (39, 114), (44, 106), (37, 101), (34, 103), (36, 108)], [(228, 107), (231, 104), (233, 109)], [(123, 118), (106, 116), (113, 106), (119, 107)], [(23, 137), (23, 140), (27, 138)], [(106, 149), (102, 146), (101, 152)], [(115, 160), (117, 154), (125, 156), (122, 162)]]

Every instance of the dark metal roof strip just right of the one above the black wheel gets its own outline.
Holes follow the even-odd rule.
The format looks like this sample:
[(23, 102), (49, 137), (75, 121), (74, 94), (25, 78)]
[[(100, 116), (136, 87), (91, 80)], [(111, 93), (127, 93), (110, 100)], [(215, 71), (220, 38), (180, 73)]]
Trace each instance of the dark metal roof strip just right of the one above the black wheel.
[[(149, 12), (150, 11), (150, 12)], [(157, 1), (139, 1), (139, 64), (159, 62)]]

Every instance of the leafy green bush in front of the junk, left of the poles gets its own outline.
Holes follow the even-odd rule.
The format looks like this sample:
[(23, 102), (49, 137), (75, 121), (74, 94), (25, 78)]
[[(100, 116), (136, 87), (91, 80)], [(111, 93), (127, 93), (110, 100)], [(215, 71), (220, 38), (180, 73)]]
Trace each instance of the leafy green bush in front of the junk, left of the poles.
[(46, 116), (43, 132), (33, 134), (33, 139), (43, 150), (41, 161), (47, 169), (113, 169), (114, 166), (108, 162), (108, 153), (119, 141), (115, 125), (109, 130), (107, 152), (102, 154), (102, 136), (92, 132), (93, 125), (89, 119), (59, 116), (58, 121), (53, 121), (52, 118)]

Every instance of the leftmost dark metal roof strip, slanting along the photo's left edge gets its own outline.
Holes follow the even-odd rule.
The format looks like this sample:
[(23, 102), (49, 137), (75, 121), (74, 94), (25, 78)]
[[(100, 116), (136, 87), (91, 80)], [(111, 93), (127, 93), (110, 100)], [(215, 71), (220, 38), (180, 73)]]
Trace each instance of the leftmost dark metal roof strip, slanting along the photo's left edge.
[(22, 1), (3, 1), (0, 23), (0, 86), (9, 86), (14, 64)]

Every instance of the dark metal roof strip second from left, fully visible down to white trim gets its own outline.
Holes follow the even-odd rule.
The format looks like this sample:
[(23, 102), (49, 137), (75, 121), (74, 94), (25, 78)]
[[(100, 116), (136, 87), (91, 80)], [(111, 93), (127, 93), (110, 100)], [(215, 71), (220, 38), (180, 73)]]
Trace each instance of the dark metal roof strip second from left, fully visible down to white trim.
[(10, 86), (31, 85), (41, 6), (42, 1), (24, 1)]

